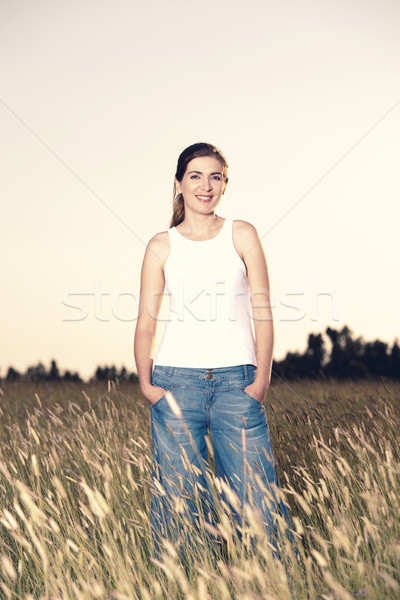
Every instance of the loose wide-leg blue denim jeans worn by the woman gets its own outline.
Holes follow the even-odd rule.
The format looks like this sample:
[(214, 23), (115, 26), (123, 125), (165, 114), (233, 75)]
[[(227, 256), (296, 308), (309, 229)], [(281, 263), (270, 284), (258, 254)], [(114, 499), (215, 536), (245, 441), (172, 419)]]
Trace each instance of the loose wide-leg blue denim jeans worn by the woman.
[(224, 482), (219, 496), (237, 519), (238, 530), (243, 524), (244, 503), (260, 511), (272, 544), (272, 513), (280, 513), (290, 526), (286, 505), (277, 500), (274, 491), (279, 479), (264, 405), (244, 391), (255, 374), (253, 365), (154, 367), (153, 385), (166, 390), (151, 406), (155, 484), (151, 527), (156, 556), (162, 547), (161, 538), (182, 541), (179, 523), (185, 514), (193, 523), (217, 522), (205, 437), (208, 432), (217, 483), (218, 479)]

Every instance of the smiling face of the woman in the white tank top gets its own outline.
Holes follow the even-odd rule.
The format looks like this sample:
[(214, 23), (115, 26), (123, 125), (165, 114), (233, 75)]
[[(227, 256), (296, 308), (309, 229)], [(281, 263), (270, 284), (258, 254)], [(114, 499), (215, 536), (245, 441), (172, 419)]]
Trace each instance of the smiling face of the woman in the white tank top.
[(185, 211), (213, 212), (226, 187), (221, 161), (213, 156), (194, 158), (186, 167), (182, 181), (175, 179), (175, 186), (183, 196)]

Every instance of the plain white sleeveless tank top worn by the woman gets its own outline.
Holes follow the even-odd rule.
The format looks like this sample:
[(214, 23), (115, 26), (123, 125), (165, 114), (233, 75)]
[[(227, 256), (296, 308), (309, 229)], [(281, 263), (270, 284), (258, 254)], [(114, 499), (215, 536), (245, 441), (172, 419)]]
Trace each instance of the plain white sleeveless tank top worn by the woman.
[(257, 366), (246, 266), (233, 244), (232, 219), (211, 240), (169, 230), (164, 267), (170, 314), (154, 364), (199, 369)]

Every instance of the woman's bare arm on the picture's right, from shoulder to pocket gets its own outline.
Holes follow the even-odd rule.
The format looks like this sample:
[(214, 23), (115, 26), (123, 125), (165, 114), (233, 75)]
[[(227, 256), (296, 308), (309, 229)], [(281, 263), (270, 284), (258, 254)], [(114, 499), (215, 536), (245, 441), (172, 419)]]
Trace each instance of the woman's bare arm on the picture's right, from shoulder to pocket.
[(257, 230), (246, 221), (234, 221), (236, 249), (244, 261), (250, 283), (256, 341), (257, 375), (247, 393), (262, 402), (271, 382), (274, 325), (267, 262)]

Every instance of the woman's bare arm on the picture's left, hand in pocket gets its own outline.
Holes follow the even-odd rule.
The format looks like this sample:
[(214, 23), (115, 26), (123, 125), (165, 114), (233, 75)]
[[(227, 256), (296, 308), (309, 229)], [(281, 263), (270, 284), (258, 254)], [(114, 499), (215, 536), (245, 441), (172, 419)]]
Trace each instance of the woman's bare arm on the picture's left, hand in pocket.
[(163, 388), (153, 386), (151, 383), (153, 368), (151, 352), (154, 347), (157, 318), (164, 292), (164, 264), (168, 254), (168, 233), (159, 233), (148, 243), (142, 264), (134, 351), (140, 389), (151, 404), (157, 402), (165, 394)]

